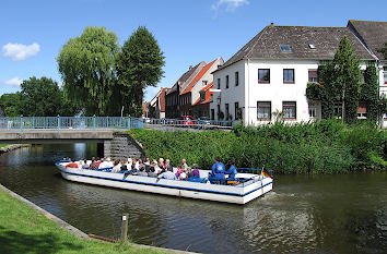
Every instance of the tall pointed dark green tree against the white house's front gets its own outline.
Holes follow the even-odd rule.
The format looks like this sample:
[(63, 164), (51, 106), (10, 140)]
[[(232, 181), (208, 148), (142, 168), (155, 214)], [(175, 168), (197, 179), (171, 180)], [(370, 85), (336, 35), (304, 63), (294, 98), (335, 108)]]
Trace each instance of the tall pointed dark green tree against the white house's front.
[(359, 64), (360, 61), (353, 56), (351, 44), (344, 36), (340, 40), (333, 61), (320, 65), (318, 70), (325, 89), (321, 95), (324, 118), (333, 117), (333, 105), (338, 100), (342, 101), (342, 120), (345, 123), (353, 123), (356, 120), (362, 75)]

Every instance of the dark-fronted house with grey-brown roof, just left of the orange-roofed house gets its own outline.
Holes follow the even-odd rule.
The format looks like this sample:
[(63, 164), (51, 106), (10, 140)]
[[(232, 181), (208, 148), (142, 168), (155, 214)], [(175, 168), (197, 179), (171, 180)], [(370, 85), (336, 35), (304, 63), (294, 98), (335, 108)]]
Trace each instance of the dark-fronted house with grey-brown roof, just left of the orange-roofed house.
[(165, 118), (178, 118), (181, 116), (179, 100), (180, 93), (186, 89), (204, 65), (206, 62), (200, 62), (194, 68), (190, 66), (165, 94)]

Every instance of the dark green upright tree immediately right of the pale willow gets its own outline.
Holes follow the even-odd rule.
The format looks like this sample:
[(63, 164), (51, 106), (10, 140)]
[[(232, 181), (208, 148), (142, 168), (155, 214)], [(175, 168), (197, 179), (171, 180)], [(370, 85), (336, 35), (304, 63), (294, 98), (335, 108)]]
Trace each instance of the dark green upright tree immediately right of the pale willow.
[(125, 112), (139, 117), (142, 112), (143, 89), (155, 86), (164, 74), (164, 56), (157, 40), (144, 26), (138, 29), (125, 41), (117, 58), (118, 83), (116, 93)]

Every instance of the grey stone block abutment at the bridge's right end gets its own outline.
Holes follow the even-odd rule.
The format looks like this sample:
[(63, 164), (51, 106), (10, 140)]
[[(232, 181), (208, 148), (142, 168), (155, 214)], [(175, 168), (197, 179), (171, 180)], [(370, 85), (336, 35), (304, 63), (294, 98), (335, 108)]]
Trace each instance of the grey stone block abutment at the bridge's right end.
[(115, 159), (144, 158), (141, 145), (127, 133), (114, 133), (112, 141), (104, 142), (104, 157)]

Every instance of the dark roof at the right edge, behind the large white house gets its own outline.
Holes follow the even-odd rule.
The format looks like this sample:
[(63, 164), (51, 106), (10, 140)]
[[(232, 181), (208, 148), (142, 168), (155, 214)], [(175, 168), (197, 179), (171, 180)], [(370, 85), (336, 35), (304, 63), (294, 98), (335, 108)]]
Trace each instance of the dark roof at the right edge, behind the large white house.
[(380, 60), (387, 60), (377, 50), (386, 47), (387, 22), (376, 21), (349, 21), (348, 27), (355, 33), (366, 47)]

